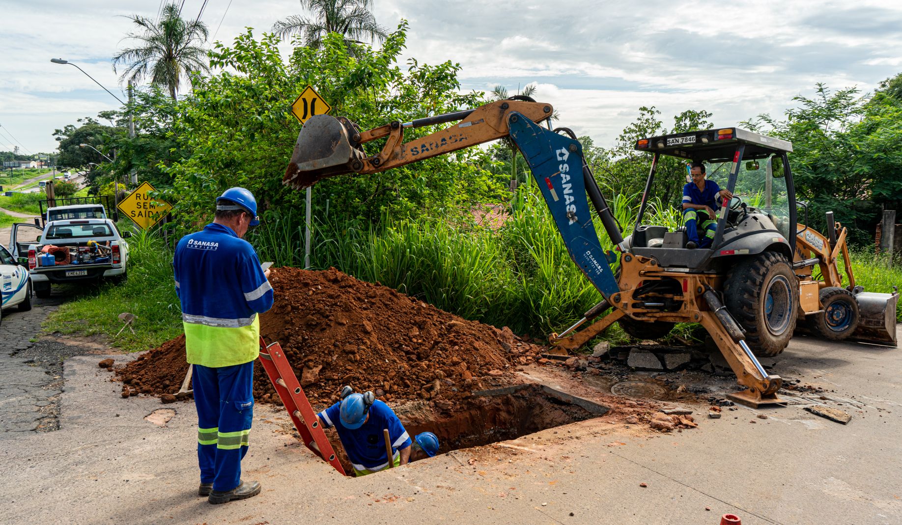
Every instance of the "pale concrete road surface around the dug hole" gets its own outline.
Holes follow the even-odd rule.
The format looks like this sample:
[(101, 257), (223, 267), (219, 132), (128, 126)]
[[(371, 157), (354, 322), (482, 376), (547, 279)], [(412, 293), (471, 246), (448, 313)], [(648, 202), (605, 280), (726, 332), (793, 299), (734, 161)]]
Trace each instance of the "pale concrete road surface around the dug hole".
[[(193, 405), (122, 399), (97, 367), (102, 356), (78, 356), (65, 362), (60, 430), (0, 435), (0, 515), (11, 523), (716, 524), (732, 512), (745, 525), (897, 524), (899, 352), (808, 337), (789, 346), (775, 372), (825, 388), (834, 401), (823, 402), (852, 414), (845, 426), (798, 405), (724, 410), (671, 434), (589, 419), (361, 479), (336, 474), (286, 433), (287, 414), (258, 406), (244, 475), (263, 492), (217, 506), (195, 493)], [(174, 412), (160, 427), (144, 419), (154, 410)]]

